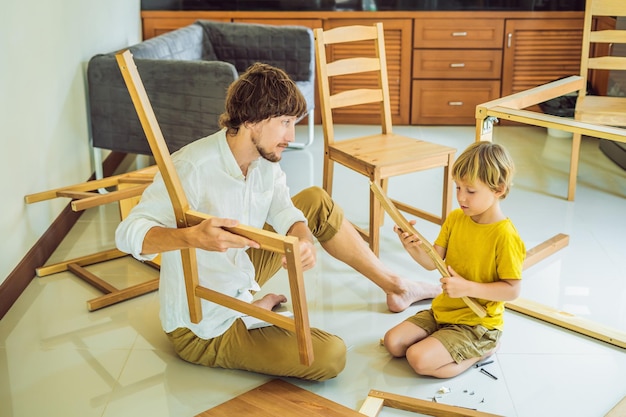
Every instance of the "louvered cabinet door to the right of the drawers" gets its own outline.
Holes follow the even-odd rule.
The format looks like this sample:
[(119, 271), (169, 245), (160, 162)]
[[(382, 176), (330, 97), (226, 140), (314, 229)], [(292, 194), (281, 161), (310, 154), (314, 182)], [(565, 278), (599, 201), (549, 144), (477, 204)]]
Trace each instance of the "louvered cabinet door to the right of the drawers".
[(580, 74), (582, 19), (508, 19), (502, 96)]

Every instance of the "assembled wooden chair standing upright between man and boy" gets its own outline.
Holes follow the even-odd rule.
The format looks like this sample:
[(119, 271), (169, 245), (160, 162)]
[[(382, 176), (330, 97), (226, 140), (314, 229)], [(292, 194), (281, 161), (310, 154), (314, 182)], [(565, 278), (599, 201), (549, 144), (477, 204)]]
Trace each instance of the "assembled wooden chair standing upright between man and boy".
[[(365, 175), (385, 192), (390, 177), (442, 168), (443, 196), (440, 215), (396, 200), (393, 202), (402, 211), (437, 224), (443, 223), (452, 205), (449, 168), (456, 149), (393, 133), (382, 23), (330, 30), (315, 29), (314, 34), (324, 130), (324, 189), (332, 194), (335, 162)], [(336, 91), (333, 81), (345, 79), (345, 76), (351, 77), (350, 82), (344, 83), (349, 87)], [(368, 103), (380, 104), (381, 132), (336, 141), (333, 111)], [(372, 192), (369, 202), (369, 231), (358, 227), (357, 230), (378, 255), (383, 211)]]

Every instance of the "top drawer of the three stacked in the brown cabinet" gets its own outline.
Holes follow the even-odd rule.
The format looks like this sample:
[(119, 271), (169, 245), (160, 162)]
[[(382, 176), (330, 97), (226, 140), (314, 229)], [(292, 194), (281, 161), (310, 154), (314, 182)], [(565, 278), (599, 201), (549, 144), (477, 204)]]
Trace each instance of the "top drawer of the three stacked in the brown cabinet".
[(503, 19), (415, 19), (414, 48), (502, 48)]

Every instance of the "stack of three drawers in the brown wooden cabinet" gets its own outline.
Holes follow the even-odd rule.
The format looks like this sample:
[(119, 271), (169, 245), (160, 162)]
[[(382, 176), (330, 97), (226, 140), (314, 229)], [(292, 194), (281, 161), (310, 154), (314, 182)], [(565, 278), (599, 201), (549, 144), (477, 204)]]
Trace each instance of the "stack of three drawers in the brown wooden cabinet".
[(416, 19), (411, 124), (473, 124), (499, 97), (503, 19)]

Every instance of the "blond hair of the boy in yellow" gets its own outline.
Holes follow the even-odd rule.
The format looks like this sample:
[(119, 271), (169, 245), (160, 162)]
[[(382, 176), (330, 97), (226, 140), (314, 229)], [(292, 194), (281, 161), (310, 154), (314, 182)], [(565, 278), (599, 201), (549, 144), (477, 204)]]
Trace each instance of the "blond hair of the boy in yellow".
[(515, 165), (507, 150), (497, 143), (474, 142), (463, 151), (452, 166), (452, 178), (486, 184), (492, 191), (502, 191), (505, 198), (513, 184)]

